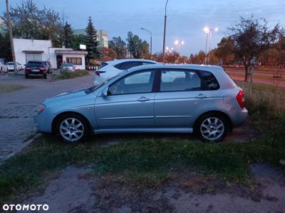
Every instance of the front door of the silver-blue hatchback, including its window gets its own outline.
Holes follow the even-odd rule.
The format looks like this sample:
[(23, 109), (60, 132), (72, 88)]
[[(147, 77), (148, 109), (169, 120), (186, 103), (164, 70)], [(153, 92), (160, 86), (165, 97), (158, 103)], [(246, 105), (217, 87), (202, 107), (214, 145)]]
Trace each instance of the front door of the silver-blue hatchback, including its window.
[(153, 127), (154, 80), (154, 70), (143, 70), (110, 84), (108, 95), (99, 95), (95, 101), (98, 129)]

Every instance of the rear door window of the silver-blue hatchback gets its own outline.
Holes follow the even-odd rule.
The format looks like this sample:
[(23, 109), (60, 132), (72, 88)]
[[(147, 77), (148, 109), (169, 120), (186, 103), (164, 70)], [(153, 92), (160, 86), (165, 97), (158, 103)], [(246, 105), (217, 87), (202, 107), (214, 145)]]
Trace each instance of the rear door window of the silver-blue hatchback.
[(202, 80), (195, 71), (162, 70), (160, 92), (202, 90)]

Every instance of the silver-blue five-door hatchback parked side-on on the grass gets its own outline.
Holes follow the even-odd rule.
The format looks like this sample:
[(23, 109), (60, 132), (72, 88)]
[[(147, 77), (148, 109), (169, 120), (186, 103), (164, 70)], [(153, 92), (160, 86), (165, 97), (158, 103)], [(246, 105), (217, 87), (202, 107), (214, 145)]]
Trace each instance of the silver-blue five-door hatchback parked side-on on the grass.
[(221, 141), (247, 119), (244, 92), (222, 67), (143, 65), (98, 86), (46, 99), (38, 131), (64, 141), (99, 133), (196, 133)]

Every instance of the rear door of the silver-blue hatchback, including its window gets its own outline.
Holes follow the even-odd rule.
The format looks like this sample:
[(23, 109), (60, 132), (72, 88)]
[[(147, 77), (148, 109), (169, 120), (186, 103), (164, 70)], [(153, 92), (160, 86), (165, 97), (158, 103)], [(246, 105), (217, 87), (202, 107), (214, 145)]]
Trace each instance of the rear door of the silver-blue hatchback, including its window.
[(192, 128), (195, 118), (212, 102), (195, 70), (161, 70), (160, 92), (155, 96), (155, 127)]

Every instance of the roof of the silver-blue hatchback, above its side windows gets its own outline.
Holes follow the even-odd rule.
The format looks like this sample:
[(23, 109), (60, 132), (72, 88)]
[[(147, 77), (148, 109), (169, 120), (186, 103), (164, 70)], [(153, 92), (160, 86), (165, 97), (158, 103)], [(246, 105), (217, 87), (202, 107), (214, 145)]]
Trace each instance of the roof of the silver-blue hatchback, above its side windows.
[(142, 70), (144, 69), (152, 69), (152, 68), (168, 68), (168, 69), (191, 69), (191, 70), (204, 70), (204, 71), (211, 71), (211, 72), (217, 72), (217, 71), (224, 71), (224, 68), (215, 66), (215, 65), (195, 65), (195, 64), (154, 64), (154, 65), (141, 65), (138, 67), (132, 67), (128, 69), (128, 72), (133, 72), (135, 70)]

